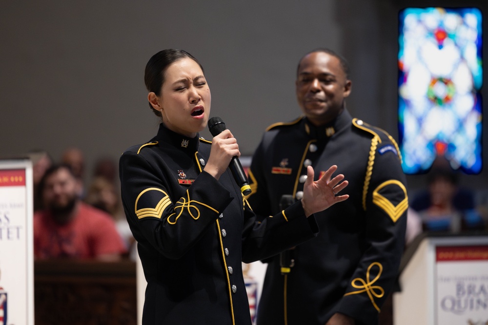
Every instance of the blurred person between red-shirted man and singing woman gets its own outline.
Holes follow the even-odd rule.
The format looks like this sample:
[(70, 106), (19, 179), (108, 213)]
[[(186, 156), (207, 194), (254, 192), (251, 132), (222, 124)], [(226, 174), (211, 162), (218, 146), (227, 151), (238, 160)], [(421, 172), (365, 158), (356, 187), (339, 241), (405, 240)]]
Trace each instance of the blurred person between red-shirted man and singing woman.
[(135, 240), (130, 231), (127, 219), (125, 219), (120, 194), (116, 191), (114, 183), (103, 176), (95, 177), (88, 188), (85, 202), (109, 213), (114, 218), (115, 225), (126, 248), (130, 249)]

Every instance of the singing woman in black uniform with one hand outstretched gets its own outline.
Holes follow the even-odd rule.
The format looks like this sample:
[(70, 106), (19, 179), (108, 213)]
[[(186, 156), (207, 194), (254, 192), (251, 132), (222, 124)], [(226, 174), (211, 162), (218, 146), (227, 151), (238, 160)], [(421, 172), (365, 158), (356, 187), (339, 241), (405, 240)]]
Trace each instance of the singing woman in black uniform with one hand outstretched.
[[(199, 137), (210, 89), (182, 50), (150, 58), (144, 76), (158, 134), (120, 158), (122, 201), (147, 281), (142, 324), (250, 325), (242, 261), (273, 256), (318, 232), (313, 213), (344, 201), (332, 166), (318, 181), (308, 167), (303, 199), (258, 218), (228, 170), (239, 146), (229, 130)], [(258, 221), (259, 220), (259, 221)]]

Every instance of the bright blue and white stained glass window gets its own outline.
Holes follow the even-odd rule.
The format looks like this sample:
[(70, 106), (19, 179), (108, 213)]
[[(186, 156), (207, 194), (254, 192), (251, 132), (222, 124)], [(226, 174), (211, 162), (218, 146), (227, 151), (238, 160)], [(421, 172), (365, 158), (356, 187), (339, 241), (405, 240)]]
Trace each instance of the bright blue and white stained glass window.
[(437, 156), (454, 170), (481, 171), (481, 11), (406, 8), (398, 51), (399, 145), (407, 174)]

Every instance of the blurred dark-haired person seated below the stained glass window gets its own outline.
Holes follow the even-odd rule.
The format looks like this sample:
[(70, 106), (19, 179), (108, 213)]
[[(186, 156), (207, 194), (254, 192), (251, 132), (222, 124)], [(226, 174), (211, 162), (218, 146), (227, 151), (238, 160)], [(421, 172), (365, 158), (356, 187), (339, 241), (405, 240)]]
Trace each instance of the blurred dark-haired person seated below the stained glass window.
[(458, 187), (450, 168), (433, 167), (427, 177), (427, 192), (417, 195), (410, 207), (419, 212), (426, 231), (460, 232), (484, 228), (470, 191)]

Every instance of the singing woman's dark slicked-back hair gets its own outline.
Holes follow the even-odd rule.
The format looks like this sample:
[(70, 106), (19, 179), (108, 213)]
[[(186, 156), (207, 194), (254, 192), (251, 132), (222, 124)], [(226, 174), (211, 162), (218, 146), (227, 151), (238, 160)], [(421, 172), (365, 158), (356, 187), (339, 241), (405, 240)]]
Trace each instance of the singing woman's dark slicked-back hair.
[[(164, 73), (171, 64), (186, 57), (197, 62), (203, 71), (203, 67), (200, 62), (191, 54), (183, 50), (166, 49), (153, 55), (147, 62), (144, 70), (144, 83), (146, 84), (147, 91), (156, 94), (156, 96), (161, 96)], [(149, 103), (149, 107), (154, 114), (161, 117), (161, 112), (155, 110), (151, 103)]]

